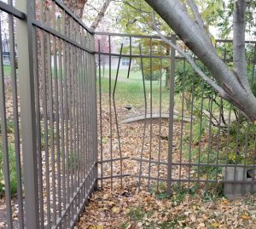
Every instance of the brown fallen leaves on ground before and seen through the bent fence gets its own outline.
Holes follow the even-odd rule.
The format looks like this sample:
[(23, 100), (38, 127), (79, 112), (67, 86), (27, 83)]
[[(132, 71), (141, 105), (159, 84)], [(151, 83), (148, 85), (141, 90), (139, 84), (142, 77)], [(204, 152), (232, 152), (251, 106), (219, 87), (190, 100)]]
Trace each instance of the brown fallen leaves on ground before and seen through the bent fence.
[[(103, 109), (102, 114), (102, 152), (103, 157), (109, 159), (109, 113), (107, 111), (108, 109)], [(129, 114), (125, 114), (125, 111), (118, 110), (118, 112), (119, 117), (129, 116)], [(143, 123), (119, 126), (123, 157), (139, 156), (142, 127)], [(152, 151), (155, 153), (153, 153), (152, 158), (158, 159), (158, 143), (159, 137), (161, 137), (161, 152), (163, 153), (160, 155), (160, 160), (166, 161), (167, 140), (165, 137), (168, 133), (166, 124), (163, 124), (160, 134), (156, 125), (153, 125), (153, 130)], [(173, 160), (178, 162), (180, 158), (178, 150), (180, 128), (178, 123), (175, 124), (174, 131)], [(113, 144), (115, 145), (117, 145), (116, 138), (116, 134), (113, 134)], [(148, 157), (149, 152), (148, 137), (146, 138), (144, 158)], [(119, 151), (113, 151), (112, 157), (120, 157)], [(143, 166), (145, 167), (142, 168), (142, 174), (148, 175), (148, 166)], [(158, 168), (156, 166), (152, 168), (151, 175), (157, 175)], [(108, 163), (102, 169), (101, 173), (107, 176), (111, 175)], [(186, 168), (181, 168), (181, 172), (178, 170), (178, 168), (174, 168), (174, 176), (186, 177), (189, 174)], [(123, 173), (138, 175), (140, 170), (137, 163), (128, 160), (123, 164)], [(113, 164), (113, 174), (119, 175), (119, 168), (115, 167), (115, 164)], [(160, 177), (166, 177), (166, 169), (160, 170)], [(123, 180), (123, 187), (119, 186), (119, 180), (113, 179), (113, 189), (111, 190), (110, 181), (104, 181), (102, 190), (95, 192), (90, 198), (89, 206), (79, 219), (77, 228), (256, 228), (256, 196), (228, 200), (219, 196), (206, 195), (203, 189), (188, 191), (187, 184), (185, 184), (186, 186), (176, 184), (172, 197), (169, 197), (164, 183), (159, 184), (160, 189), (157, 191), (155, 183), (150, 183), (148, 188), (147, 180), (143, 180), (144, 182), (138, 190), (138, 180), (126, 177)], [(99, 183), (101, 184), (101, 182)]]

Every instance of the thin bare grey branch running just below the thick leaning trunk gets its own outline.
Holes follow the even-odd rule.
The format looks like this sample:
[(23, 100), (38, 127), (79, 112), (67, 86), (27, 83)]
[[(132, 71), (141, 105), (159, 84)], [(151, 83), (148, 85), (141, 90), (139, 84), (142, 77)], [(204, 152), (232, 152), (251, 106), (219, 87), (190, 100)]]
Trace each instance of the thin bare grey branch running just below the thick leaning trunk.
[(218, 86), (218, 84), (215, 83), (210, 77), (207, 77), (207, 75), (206, 75), (204, 72), (202, 72), (201, 69), (200, 69), (198, 66), (196, 66), (195, 61), (194, 61), (192, 58), (190, 58), (190, 56), (189, 56), (188, 54), (186, 54), (182, 49), (180, 49), (179, 47), (177, 47), (177, 45), (175, 45), (174, 43), (172, 43), (172, 41), (170, 41), (170, 40), (167, 39), (164, 35), (162, 35), (162, 33), (160, 32), (158, 26), (156, 26), (156, 22), (155, 22), (155, 18), (154, 18), (154, 11), (152, 12), (152, 20), (153, 20), (153, 25), (152, 25), (152, 26), (153, 26), (153, 29), (154, 29), (154, 31), (156, 31), (156, 32), (159, 34), (159, 36), (161, 37), (161, 39), (162, 39), (164, 42), (168, 43), (173, 49), (176, 49), (179, 54), (182, 54), (183, 57), (185, 57), (185, 58), (188, 60), (189, 64), (194, 68), (195, 72), (196, 72), (203, 80), (205, 80), (207, 83), (209, 83), (209, 84), (212, 86), (213, 89), (215, 89), (216, 91), (218, 91), (219, 96), (221, 96), (222, 98), (224, 98), (225, 100), (227, 100), (227, 99), (228, 99), (228, 96), (227, 96), (227, 94), (224, 92), (224, 89), (220, 88), (220, 87)]

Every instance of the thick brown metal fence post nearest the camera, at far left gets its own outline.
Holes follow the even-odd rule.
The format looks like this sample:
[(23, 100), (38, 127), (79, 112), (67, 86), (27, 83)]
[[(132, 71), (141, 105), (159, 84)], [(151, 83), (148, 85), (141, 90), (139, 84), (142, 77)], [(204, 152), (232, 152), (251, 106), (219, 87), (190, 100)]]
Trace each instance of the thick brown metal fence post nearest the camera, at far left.
[(16, 8), (26, 14), (26, 20), (17, 20), (17, 50), (26, 228), (35, 229), (39, 228), (35, 93), (32, 60), (32, 37), (35, 32), (32, 20), (35, 17), (35, 1), (16, 1)]

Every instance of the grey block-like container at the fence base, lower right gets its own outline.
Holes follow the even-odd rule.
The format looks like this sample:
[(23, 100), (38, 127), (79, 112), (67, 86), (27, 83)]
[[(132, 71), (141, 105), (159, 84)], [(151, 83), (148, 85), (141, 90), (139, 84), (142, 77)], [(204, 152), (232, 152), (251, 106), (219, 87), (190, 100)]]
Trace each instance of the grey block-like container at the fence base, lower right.
[(222, 169), (224, 180), (224, 196), (226, 198), (239, 198), (247, 193), (256, 192), (256, 179), (253, 181), (253, 169), (242, 167), (224, 167)]

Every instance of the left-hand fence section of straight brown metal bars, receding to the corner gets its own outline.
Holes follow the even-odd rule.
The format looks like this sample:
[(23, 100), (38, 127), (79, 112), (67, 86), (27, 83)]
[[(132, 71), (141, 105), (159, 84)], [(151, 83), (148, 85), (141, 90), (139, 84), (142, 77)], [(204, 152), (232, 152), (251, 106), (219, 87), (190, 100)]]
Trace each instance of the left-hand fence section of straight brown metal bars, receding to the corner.
[(94, 35), (60, 0), (0, 9), (1, 226), (72, 228), (96, 188)]

